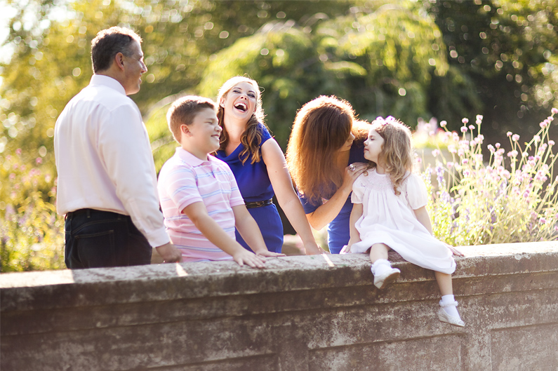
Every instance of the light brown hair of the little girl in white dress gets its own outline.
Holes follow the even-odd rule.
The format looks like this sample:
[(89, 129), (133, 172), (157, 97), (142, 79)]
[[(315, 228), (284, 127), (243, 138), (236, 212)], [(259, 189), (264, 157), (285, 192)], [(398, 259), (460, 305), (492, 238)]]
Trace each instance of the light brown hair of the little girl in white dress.
[[(371, 130), (375, 130), (383, 138), (380, 159), (383, 161), (386, 173), (390, 174), (395, 194), (401, 194), (399, 187), (407, 172), (413, 171), (413, 146), (411, 144), (411, 129), (392, 116), (372, 121)], [(371, 162), (371, 168), (376, 163)]]

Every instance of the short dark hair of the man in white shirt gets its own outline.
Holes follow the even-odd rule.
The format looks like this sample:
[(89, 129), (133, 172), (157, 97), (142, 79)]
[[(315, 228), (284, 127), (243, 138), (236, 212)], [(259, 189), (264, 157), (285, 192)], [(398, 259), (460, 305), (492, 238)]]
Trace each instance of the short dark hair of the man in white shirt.
[(142, 39), (131, 29), (114, 26), (100, 31), (91, 41), (93, 73), (108, 69), (118, 53), (131, 57), (130, 46), (133, 41), (141, 43)]

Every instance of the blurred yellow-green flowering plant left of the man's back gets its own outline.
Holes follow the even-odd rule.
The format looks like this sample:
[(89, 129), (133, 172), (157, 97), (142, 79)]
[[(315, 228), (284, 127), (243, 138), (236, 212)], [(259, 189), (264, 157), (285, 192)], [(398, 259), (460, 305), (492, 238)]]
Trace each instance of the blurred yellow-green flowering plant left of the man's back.
[(64, 224), (56, 214), (55, 178), (42, 158), (25, 163), (21, 149), (0, 157), (1, 271), (62, 269)]

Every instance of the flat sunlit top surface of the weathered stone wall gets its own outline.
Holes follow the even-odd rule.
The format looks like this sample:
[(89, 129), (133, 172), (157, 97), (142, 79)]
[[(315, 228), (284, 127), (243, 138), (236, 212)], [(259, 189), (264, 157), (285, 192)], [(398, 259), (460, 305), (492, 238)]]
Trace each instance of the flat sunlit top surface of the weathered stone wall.
[[(533, 255), (550, 255), (558, 259), (558, 241), (536, 243), (504, 243), (494, 245), (460, 246), (458, 250), (465, 257), (456, 257), (458, 269), (454, 276), (470, 276), (467, 267), (475, 266), (480, 260), (490, 257), (514, 257), (516, 260)], [(399, 266), (405, 262), (397, 253), (390, 252), (390, 259)], [(368, 270), (370, 262), (366, 254), (347, 255), (313, 255), (268, 258), (265, 269), (240, 267), (232, 261), (227, 262), (197, 262), (180, 264), (152, 264), (136, 267), (95, 268), (60, 271), (32, 271), (0, 274), (0, 289), (32, 288), (50, 285), (103, 283), (114, 281), (158, 280), (167, 278), (201, 278), (215, 276), (261, 276), (266, 272), (278, 271), (331, 271), (332, 269)], [(557, 267), (554, 265), (554, 267)], [(406, 268), (408, 269), (408, 268)], [(557, 267), (558, 269), (558, 267)], [(461, 271), (464, 270), (464, 271)], [(493, 272), (492, 272), (493, 273)], [(502, 272), (501, 274), (505, 274)], [(510, 274), (513, 272), (509, 272)]]

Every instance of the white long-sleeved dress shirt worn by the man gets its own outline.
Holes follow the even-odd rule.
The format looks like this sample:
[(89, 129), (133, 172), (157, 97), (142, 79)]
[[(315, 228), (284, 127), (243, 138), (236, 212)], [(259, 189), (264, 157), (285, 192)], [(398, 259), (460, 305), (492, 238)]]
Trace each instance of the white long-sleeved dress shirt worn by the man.
[(83, 208), (130, 215), (152, 246), (170, 242), (147, 130), (117, 80), (94, 74), (68, 102), (56, 121), (54, 154), (60, 215)]

